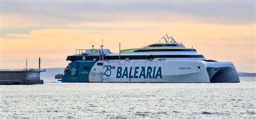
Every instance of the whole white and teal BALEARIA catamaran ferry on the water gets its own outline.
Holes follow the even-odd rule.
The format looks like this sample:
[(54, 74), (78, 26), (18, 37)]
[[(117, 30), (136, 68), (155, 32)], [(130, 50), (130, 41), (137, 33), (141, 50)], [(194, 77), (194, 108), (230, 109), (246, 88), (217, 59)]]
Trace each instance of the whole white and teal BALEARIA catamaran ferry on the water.
[(196, 83), (240, 82), (228, 61), (206, 60), (167, 34), (165, 43), (111, 53), (100, 49), (76, 50), (66, 58), (62, 82)]

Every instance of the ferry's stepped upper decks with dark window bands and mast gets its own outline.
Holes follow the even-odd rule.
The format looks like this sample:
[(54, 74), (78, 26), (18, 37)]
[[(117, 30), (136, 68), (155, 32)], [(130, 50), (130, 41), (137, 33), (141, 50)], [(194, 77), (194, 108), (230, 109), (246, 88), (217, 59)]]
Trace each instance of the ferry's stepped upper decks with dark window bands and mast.
[(175, 59), (204, 59), (194, 48), (186, 48), (183, 44), (177, 43), (173, 37), (167, 34), (163, 36), (165, 43), (151, 44), (143, 48), (132, 48), (120, 50), (119, 53), (112, 53), (108, 49), (78, 49), (76, 55), (68, 56), (66, 60), (114, 60), (114, 59), (154, 59), (154, 58), (175, 58)]

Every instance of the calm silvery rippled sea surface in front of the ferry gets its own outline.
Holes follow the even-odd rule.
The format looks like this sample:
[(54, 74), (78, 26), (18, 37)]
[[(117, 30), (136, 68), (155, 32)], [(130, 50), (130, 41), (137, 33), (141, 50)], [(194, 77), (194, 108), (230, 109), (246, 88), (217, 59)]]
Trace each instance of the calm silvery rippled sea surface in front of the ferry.
[(6, 117), (256, 117), (256, 79), (241, 83), (60, 83), (0, 86)]

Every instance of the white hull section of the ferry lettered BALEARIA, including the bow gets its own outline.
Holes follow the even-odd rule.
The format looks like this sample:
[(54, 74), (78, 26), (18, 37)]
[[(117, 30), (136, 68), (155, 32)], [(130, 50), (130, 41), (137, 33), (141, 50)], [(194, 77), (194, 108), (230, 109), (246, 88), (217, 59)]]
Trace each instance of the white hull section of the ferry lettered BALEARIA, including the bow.
[[(107, 60), (93, 66), (90, 82), (239, 82), (231, 62), (202, 60)], [(94, 70), (95, 69), (95, 70)]]

